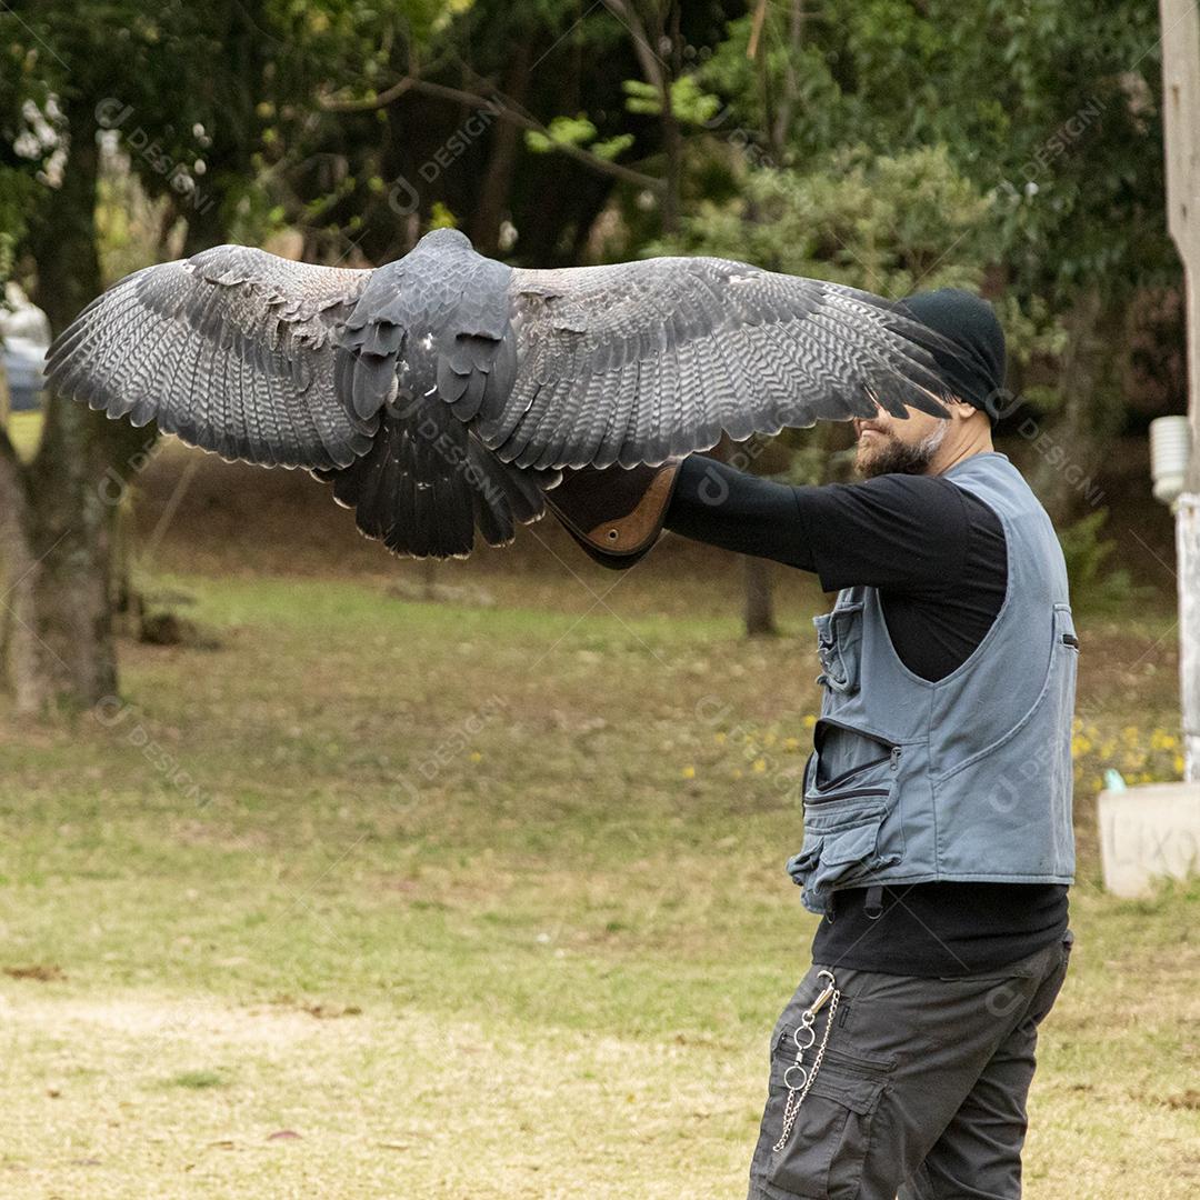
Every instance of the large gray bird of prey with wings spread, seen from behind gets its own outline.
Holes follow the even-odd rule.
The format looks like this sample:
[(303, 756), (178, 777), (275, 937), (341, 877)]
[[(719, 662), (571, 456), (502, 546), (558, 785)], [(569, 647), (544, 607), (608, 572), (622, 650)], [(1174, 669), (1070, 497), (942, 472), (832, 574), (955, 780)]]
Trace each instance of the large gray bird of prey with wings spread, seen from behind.
[(954, 349), (854, 288), (721, 258), (524, 270), (455, 229), (374, 270), (217, 246), (121, 280), (47, 355), (60, 395), (306, 468), (396, 553), (462, 557), (564, 469), (816, 420), (946, 415)]

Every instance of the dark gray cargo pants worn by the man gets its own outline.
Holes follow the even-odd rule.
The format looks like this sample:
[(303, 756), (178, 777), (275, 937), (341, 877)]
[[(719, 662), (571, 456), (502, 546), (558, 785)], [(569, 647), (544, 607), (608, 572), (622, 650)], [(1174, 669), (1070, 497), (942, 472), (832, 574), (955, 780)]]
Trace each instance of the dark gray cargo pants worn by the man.
[[(822, 964), (814, 964), (772, 1037), (749, 1200), (1020, 1196), (1037, 1027), (1066, 978), (1073, 941), (1068, 930), (1028, 958), (956, 979), (828, 967), (840, 996), (824, 1057), (775, 1151), (785, 1073), (796, 1061), (792, 1031), (822, 990)], [(828, 1012), (814, 1022), (806, 1068)]]

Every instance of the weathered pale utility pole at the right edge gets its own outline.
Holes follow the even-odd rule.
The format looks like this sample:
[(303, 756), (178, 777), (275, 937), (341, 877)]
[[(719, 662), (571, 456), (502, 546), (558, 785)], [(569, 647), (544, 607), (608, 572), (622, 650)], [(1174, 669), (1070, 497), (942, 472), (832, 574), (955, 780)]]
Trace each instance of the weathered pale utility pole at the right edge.
[(1159, 0), (1166, 211), (1187, 295), (1192, 454), (1175, 511), (1180, 590), (1180, 700), (1188, 782), (1200, 781), (1200, 8)]

